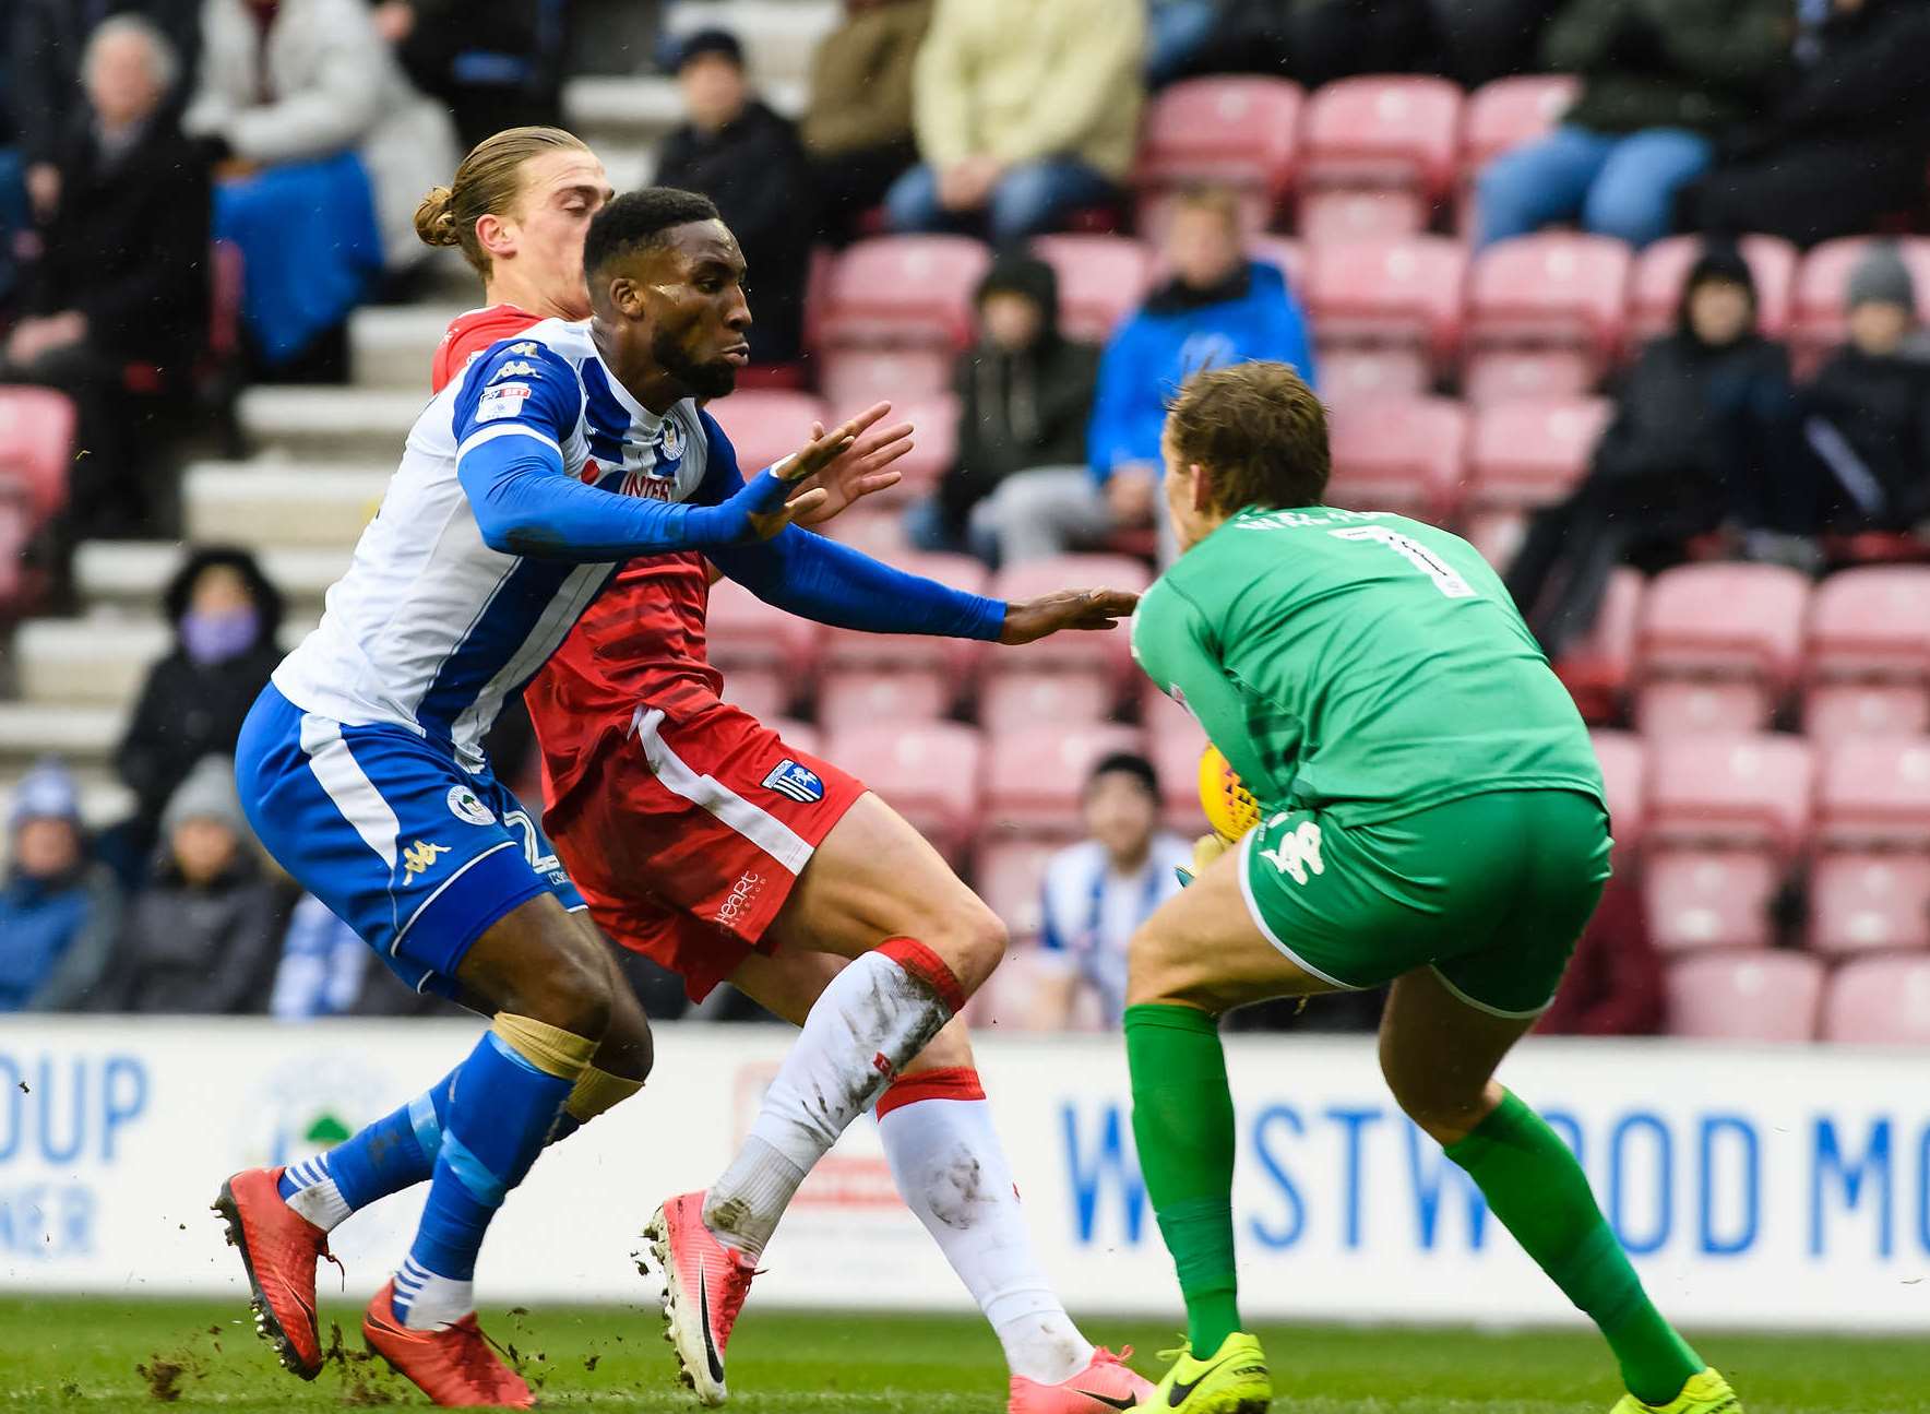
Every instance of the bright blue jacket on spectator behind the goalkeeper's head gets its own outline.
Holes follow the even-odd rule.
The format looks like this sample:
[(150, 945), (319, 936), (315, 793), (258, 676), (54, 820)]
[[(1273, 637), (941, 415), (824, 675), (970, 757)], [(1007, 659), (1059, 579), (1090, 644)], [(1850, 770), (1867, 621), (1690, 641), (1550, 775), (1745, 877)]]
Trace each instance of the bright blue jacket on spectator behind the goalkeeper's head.
[(1249, 261), (1212, 290), (1177, 280), (1152, 292), (1106, 344), (1087, 456), (1092, 475), (1121, 462), (1160, 466), (1166, 404), (1193, 373), (1227, 363), (1276, 359), (1314, 382), (1307, 317), (1278, 267)]

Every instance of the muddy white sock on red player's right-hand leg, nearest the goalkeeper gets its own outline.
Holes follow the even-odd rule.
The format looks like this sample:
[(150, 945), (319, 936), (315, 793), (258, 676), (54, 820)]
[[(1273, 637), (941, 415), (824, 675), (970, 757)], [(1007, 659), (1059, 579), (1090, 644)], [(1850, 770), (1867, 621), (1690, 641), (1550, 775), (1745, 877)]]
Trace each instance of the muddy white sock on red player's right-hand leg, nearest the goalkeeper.
[(984, 1099), (919, 1099), (878, 1117), (892, 1178), (1006, 1346), (1011, 1373), (1058, 1385), (1092, 1364), (1033, 1252)]

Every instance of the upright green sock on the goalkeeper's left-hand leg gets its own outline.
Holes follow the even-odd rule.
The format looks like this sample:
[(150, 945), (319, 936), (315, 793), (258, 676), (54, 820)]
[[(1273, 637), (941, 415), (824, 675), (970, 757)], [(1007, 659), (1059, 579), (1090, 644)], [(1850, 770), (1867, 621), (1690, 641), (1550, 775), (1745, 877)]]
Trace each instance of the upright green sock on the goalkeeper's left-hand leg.
[(1233, 1091), (1220, 1022), (1191, 1006), (1127, 1006), (1125, 1060), (1139, 1169), (1187, 1298), (1187, 1339), (1208, 1360), (1239, 1329)]

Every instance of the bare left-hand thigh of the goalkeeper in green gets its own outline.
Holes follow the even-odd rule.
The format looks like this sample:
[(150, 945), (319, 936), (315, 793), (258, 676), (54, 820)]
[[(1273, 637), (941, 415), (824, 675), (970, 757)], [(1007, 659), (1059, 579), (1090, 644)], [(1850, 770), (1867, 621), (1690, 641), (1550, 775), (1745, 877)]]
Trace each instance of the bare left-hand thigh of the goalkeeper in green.
[(1218, 1016), (1270, 997), (1336, 991), (1262, 931), (1247, 900), (1243, 858), (1245, 850), (1227, 850), (1141, 923), (1129, 954), (1129, 1006), (1168, 1003)]

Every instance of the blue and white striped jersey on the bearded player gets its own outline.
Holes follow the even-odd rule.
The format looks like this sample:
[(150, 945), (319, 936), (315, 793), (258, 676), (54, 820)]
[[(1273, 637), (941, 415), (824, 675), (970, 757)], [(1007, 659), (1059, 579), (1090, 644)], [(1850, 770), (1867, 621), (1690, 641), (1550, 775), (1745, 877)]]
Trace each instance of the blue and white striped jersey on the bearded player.
[[(531, 454), (548, 466), (533, 471)], [(513, 475), (490, 481), (498, 469)], [(730, 442), (695, 402), (658, 417), (604, 365), (587, 321), (535, 325), (475, 359), (417, 417), (380, 512), (328, 589), (320, 626), (274, 672), (282, 695), (345, 724), (405, 726), (450, 748), (465, 769), (482, 769), (481, 742), (504, 699), (635, 551), (635, 537), (621, 549), (594, 533), (535, 541), (538, 529), (575, 523), (565, 516), (517, 543), (542, 556), (486, 537), (492, 502), (529, 491), (527, 479), (517, 483), (529, 475), (548, 481), (546, 496), (567, 491), (573, 508), (596, 512), (598, 529), (602, 512), (643, 508), (585, 500), (591, 487), (703, 504), (743, 487)]]

